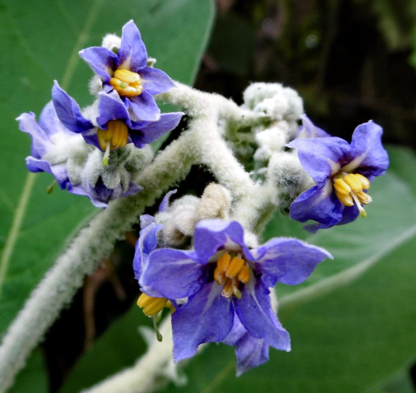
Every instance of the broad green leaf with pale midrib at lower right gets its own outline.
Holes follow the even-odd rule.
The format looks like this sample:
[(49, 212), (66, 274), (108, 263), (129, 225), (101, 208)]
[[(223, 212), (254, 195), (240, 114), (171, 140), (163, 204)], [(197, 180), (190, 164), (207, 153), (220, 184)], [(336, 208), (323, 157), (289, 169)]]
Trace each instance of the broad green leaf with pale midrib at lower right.
[[(416, 159), (403, 153), (401, 161), (397, 149), (394, 155), (389, 173), (371, 185), (374, 202), (365, 220), (306, 236), (335, 259), (324, 261), (303, 287), (277, 287), (283, 294), (279, 317), (291, 335), (292, 351), (271, 348), (269, 362), (235, 378), (233, 348), (210, 345), (185, 368), (189, 384), (163, 392), (388, 388), (381, 383), (416, 354), (416, 197), (399, 178), (414, 172)], [(272, 228), (283, 234), (279, 225), (269, 227), (269, 236)], [(286, 236), (299, 232), (292, 224), (286, 229), (293, 229)]]

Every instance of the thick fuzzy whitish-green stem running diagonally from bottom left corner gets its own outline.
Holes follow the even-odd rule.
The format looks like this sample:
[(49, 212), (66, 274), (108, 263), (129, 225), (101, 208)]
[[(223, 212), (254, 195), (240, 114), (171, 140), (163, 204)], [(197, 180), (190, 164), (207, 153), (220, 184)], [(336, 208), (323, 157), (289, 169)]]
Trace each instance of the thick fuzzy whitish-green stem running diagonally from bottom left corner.
[[(158, 154), (137, 179), (143, 191), (117, 199), (97, 214), (32, 292), (0, 347), (1, 393), (12, 385), (30, 352), (82, 286), (84, 276), (110, 254), (116, 240), (124, 238), (146, 206), (188, 174), (195, 161), (193, 151), (186, 148), (191, 138), (189, 130)], [(173, 164), (175, 171), (171, 170)]]

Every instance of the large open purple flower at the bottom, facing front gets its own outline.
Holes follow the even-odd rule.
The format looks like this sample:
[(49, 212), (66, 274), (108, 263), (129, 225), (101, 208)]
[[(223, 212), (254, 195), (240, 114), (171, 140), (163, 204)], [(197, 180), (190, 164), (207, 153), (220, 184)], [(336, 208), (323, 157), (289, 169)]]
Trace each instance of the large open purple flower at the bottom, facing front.
[[(161, 248), (148, 254), (139, 280), (142, 289), (176, 300), (175, 361), (193, 356), (201, 343), (224, 341), (237, 346), (240, 373), (266, 361), (268, 346), (290, 351), (289, 334), (272, 310), (269, 288), (277, 282), (299, 284), (332, 256), (286, 238), (250, 250), (243, 237), (236, 221), (203, 220), (195, 228), (194, 250)], [(181, 306), (178, 299), (184, 298), (188, 301)]]

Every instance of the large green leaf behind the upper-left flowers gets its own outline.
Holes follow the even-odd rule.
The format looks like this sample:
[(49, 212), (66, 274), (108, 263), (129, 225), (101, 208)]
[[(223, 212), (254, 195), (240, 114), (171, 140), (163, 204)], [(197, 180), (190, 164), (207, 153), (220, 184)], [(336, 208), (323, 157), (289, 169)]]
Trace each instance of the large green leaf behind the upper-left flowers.
[[(92, 71), (83, 47), (99, 45), (107, 32), (121, 34), (134, 19), (149, 55), (173, 79), (192, 83), (213, 21), (213, 2), (200, 0), (35, 0), (0, 3), (2, 70), (0, 99), (0, 333), (62, 250), (67, 236), (92, 212), (86, 197), (45, 190), (48, 174), (29, 174), (30, 138), (15, 118), (39, 114), (57, 79), (81, 105), (92, 102)], [(7, 59), (7, 60), (6, 60)], [(58, 187), (59, 188), (59, 187)]]

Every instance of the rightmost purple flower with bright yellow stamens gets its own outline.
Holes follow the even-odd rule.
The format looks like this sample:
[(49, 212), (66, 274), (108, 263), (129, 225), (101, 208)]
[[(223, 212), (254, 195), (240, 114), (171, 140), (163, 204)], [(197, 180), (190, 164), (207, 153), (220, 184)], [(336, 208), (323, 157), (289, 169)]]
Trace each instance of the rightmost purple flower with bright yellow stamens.
[[(312, 122), (308, 125), (312, 129)], [(303, 169), (316, 185), (300, 194), (290, 206), (290, 218), (317, 221), (304, 229), (312, 233), (347, 224), (366, 216), (362, 204), (370, 181), (386, 172), (389, 157), (381, 144), (382, 128), (372, 122), (360, 124), (349, 144), (338, 137), (295, 139), (287, 147), (297, 149)]]

